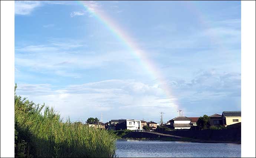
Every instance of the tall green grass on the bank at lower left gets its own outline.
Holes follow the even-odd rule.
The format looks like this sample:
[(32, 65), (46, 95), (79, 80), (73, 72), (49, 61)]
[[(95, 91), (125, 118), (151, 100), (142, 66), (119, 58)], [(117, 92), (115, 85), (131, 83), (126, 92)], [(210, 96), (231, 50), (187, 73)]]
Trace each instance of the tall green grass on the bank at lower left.
[[(16, 89), (16, 88), (15, 88)], [(53, 108), (15, 98), (15, 157), (115, 157), (115, 135), (63, 121)]]

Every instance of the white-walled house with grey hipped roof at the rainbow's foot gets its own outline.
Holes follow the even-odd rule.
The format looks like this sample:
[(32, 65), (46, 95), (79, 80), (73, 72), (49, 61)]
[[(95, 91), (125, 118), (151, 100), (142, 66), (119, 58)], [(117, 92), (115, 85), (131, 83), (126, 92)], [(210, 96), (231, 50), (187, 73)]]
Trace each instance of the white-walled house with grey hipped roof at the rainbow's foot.
[(191, 118), (185, 117), (185, 116), (180, 116), (180, 117), (175, 117), (168, 122), (170, 122), (170, 128), (173, 128), (175, 130), (180, 130), (180, 129), (190, 129), (191, 128)]

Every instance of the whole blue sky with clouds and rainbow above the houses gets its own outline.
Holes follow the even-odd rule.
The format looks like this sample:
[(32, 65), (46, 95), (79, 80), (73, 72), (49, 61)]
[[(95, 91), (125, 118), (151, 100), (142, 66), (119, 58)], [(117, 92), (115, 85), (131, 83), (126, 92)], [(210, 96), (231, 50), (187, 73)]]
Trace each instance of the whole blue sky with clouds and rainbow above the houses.
[(241, 110), (240, 1), (15, 1), (17, 94), (61, 117)]

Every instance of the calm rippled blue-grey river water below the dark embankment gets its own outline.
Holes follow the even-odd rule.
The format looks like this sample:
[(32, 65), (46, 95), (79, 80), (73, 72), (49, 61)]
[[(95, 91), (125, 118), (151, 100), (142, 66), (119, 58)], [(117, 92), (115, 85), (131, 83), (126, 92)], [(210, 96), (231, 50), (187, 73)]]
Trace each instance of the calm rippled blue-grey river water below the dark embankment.
[(241, 144), (117, 140), (118, 157), (241, 157)]

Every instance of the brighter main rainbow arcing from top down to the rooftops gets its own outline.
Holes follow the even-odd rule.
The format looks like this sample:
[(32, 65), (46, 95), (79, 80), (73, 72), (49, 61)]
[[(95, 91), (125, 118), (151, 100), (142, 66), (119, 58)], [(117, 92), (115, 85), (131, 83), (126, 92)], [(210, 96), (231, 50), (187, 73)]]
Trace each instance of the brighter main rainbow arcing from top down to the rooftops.
[(147, 54), (142, 51), (137, 44), (132, 41), (132, 38), (128, 36), (128, 34), (118, 27), (118, 24), (114, 22), (110, 17), (108, 17), (105, 12), (99, 10), (96, 7), (95, 3), (92, 1), (78, 1), (79, 5), (85, 7), (86, 11), (89, 11), (98, 21), (100, 21), (104, 26), (106, 26), (115, 36), (118, 38), (126, 47), (129, 48), (132, 55), (135, 56), (141, 65), (147, 70), (147, 72), (154, 78), (160, 85), (160, 88), (164, 91), (166, 95), (166, 99), (171, 100), (172, 104), (170, 107), (178, 109), (178, 105), (175, 102), (175, 97), (171, 94), (170, 87), (167, 85), (167, 80), (165, 80), (160, 70), (158, 70), (157, 66), (154, 65), (152, 61), (147, 57)]

